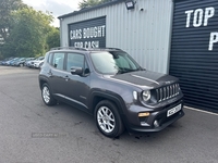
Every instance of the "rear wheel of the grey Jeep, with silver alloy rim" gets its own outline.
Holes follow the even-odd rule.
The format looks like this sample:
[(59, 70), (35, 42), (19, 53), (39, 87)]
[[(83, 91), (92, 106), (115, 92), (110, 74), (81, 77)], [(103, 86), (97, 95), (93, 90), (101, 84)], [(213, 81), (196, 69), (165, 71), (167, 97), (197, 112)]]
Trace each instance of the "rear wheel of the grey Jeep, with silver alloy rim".
[(41, 87), (41, 98), (47, 105), (57, 104), (57, 100), (52, 97), (48, 84), (44, 84)]

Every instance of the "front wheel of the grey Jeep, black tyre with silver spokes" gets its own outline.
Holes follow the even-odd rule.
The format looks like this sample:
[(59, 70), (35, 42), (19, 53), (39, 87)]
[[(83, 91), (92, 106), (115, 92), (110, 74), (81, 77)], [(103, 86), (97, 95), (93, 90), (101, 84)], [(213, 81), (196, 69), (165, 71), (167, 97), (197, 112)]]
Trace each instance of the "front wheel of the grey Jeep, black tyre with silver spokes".
[(95, 122), (100, 133), (106, 137), (116, 138), (124, 130), (118, 108), (108, 100), (102, 100), (96, 105)]

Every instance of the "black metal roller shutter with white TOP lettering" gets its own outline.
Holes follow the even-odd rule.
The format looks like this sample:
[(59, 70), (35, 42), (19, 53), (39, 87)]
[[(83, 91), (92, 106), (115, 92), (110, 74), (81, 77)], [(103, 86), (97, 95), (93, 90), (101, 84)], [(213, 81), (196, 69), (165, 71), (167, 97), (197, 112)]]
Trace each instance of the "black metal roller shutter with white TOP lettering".
[(218, 1), (175, 0), (170, 74), (189, 106), (218, 112)]

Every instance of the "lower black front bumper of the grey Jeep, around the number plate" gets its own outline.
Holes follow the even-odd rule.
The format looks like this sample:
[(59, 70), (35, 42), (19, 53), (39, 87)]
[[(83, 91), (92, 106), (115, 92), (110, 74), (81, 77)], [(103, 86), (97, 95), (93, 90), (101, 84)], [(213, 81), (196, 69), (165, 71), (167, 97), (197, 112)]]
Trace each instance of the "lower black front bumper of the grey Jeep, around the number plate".
[[(181, 110), (171, 116), (167, 116), (167, 112), (179, 104), (181, 104)], [(131, 116), (134, 115), (134, 120), (133, 118), (130, 120), (128, 116), (123, 116), (126, 129), (130, 133), (150, 133), (150, 131), (162, 130), (170, 124), (174, 123), (175, 121), (184, 116), (183, 100), (171, 103), (162, 108), (162, 110), (158, 109), (158, 111), (154, 110), (154, 111), (148, 111), (148, 112), (150, 113), (150, 115), (147, 117), (138, 117), (137, 116), (138, 112), (130, 113), (132, 114)]]

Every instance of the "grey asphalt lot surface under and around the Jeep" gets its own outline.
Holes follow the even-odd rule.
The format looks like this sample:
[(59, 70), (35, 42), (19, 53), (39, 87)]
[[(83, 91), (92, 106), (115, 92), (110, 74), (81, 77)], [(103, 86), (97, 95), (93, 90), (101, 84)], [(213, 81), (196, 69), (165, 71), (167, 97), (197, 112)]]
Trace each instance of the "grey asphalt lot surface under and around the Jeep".
[(104, 137), (70, 105), (46, 106), (38, 70), (0, 66), (0, 163), (218, 163), (218, 115), (184, 109), (160, 133)]

